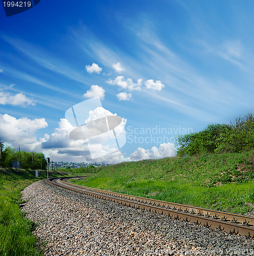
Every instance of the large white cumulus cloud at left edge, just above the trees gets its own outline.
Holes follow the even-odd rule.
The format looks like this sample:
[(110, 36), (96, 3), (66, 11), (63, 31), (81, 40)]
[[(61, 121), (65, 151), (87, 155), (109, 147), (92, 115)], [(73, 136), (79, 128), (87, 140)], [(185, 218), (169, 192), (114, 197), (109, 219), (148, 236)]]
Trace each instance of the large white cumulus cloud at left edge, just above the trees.
[(48, 126), (44, 118), (28, 119), (27, 117), (15, 118), (8, 114), (0, 114), (0, 134), (2, 140), (14, 148), (22, 145), (23, 150), (40, 151), (41, 142), (45, 138), (36, 138), (36, 131)]

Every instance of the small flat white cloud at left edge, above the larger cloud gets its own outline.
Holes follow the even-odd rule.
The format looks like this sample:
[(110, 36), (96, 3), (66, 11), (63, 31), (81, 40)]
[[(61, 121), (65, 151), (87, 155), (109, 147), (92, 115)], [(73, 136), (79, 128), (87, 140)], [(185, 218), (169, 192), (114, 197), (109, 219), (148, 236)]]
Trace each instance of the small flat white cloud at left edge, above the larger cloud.
[(0, 104), (10, 104), (10, 105), (35, 105), (35, 101), (29, 99), (25, 94), (17, 93), (11, 95), (10, 93), (0, 92)]

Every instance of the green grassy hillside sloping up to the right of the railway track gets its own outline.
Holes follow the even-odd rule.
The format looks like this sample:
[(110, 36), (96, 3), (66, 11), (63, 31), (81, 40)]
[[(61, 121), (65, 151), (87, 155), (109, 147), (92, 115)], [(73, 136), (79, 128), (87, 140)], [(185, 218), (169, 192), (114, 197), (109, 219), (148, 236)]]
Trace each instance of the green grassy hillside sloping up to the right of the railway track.
[(254, 203), (254, 151), (124, 162), (75, 183), (244, 214)]

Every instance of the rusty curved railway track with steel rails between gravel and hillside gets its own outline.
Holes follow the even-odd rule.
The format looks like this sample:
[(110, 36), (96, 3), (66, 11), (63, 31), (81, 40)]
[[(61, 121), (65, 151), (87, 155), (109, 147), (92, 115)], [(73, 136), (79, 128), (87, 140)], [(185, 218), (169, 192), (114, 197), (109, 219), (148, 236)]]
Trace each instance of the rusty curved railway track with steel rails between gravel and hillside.
[(80, 186), (67, 182), (68, 179), (73, 178), (82, 177), (51, 178), (48, 179), (48, 182), (50, 184), (67, 188), (85, 195), (121, 203), (123, 205), (135, 207), (138, 209), (154, 211), (158, 214), (167, 215), (175, 220), (194, 222), (205, 227), (218, 228), (230, 234), (239, 234), (241, 236), (254, 238), (254, 217), (189, 205), (170, 203), (155, 199), (125, 195), (121, 193)]

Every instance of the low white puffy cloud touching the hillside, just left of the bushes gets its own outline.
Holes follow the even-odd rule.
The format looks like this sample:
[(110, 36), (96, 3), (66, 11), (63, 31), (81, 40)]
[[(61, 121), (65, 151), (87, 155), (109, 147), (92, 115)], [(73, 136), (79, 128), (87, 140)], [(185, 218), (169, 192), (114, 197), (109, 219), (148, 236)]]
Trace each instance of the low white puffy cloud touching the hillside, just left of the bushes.
[(175, 156), (175, 148), (173, 143), (163, 143), (159, 145), (159, 148), (153, 146), (151, 150), (145, 150), (142, 147), (138, 147), (134, 153), (128, 158), (129, 161), (137, 161), (143, 159), (159, 159), (164, 157)]

